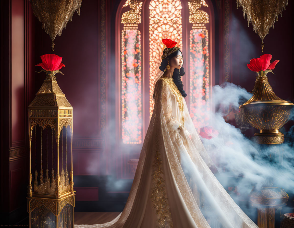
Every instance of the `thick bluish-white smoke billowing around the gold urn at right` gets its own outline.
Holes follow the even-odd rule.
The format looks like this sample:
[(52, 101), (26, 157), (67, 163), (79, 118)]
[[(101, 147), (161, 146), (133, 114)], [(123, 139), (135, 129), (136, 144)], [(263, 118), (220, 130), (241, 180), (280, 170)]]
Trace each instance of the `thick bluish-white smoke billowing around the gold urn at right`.
[[(208, 115), (211, 116), (210, 125), (219, 134), (209, 140), (200, 136), (201, 140), (218, 166), (220, 174), (216, 174), (216, 176), (221, 184), (225, 188), (232, 185), (237, 186), (237, 192), (243, 196), (234, 198), (237, 204), (242, 204), (238, 201), (239, 199), (247, 198), (248, 200), (248, 194), (253, 186), (255, 189), (260, 189), (262, 186), (281, 187), (292, 197), (294, 193), (294, 165), (292, 162), (294, 158), (292, 142), (294, 127), (292, 126), (288, 132), (285, 132), (283, 144), (257, 144), (254, 137), (248, 139), (239, 128), (225, 122), (223, 118), (228, 114), (226, 110), (229, 107), (231, 110), (238, 110), (239, 105), (251, 96), (252, 94), (245, 89), (232, 83), (214, 86), (213, 103), (216, 107), (221, 108), (219, 111), (208, 113)], [(258, 132), (258, 129), (254, 130)], [(234, 181), (232, 182), (232, 180)], [(251, 216), (256, 214), (253, 214), (252, 207), (248, 207), (248, 210), (242, 209), (247, 214), (251, 213)]]

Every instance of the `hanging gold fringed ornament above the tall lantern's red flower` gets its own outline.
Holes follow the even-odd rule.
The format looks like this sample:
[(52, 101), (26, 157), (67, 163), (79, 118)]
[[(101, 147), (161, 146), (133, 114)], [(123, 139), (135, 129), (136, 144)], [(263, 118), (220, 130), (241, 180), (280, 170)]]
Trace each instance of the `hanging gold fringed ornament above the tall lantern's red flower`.
[(42, 28), (52, 40), (52, 50), (56, 35), (61, 36), (63, 28), (72, 20), (74, 11), (80, 15), (82, 0), (30, 0), (34, 15), (42, 22)]

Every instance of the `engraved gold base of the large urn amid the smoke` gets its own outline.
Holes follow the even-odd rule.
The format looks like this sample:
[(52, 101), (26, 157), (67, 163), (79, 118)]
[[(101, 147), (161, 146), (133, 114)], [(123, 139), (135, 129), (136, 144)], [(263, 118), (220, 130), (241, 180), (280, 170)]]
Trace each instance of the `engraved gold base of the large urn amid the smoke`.
[(284, 134), (278, 130), (260, 130), (254, 136), (255, 141), (259, 144), (281, 144), (284, 142)]

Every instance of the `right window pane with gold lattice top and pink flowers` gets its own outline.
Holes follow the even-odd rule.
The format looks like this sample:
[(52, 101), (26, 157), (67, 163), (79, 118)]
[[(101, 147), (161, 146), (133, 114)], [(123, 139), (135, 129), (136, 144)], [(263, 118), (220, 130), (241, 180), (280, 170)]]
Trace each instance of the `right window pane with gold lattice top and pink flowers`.
[(210, 110), (210, 56), (209, 34), (206, 23), (209, 23), (208, 13), (200, 10), (201, 6), (208, 7), (204, 0), (188, 2), (193, 23), (190, 30), (190, 116), (197, 128), (208, 124)]

